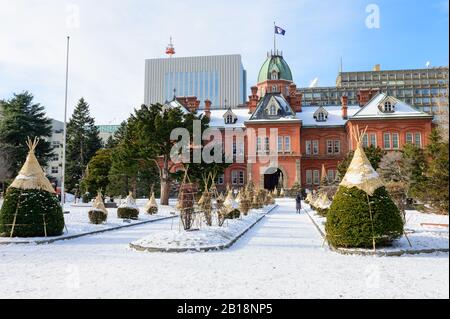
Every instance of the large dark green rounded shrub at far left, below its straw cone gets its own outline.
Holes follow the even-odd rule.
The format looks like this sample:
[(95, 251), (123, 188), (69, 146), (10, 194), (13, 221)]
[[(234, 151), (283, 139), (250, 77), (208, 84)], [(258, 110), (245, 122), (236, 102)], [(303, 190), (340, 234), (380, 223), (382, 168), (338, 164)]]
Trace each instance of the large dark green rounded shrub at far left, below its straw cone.
[(0, 210), (0, 236), (10, 236), (14, 216), (13, 237), (59, 236), (64, 230), (58, 198), (47, 191), (9, 188)]

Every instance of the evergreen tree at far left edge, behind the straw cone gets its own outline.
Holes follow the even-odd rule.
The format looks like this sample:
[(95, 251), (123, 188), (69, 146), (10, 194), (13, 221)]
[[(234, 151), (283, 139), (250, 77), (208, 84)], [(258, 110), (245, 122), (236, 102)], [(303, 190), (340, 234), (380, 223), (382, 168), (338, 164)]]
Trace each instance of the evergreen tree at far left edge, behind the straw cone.
[(27, 137), (40, 139), (35, 154), (45, 167), (52, 156), (53, 148), (46, 140), (52, 134), (51, 120), (46, 117), (44, 107), (33, 102), (33, 95), (24, 92), (14, 94), (8, 101), (2, 101), (0, 120), (0, 148), (11, 161), (11, 176), (17, 175), (28, 154)]

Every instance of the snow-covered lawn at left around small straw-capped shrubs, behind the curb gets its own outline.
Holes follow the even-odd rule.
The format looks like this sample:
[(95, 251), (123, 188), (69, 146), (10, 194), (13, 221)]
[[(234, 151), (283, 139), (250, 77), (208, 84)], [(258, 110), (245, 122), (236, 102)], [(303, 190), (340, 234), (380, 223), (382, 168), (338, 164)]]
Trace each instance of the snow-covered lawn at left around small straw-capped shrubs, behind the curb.
[[(64, 220), (66, 223), (66, 227), (64, 228), (64, 233), (61, 236), (56, 237), (48, 237), (48, 238), (9, 238), (9, 237), (0, 237), (0, 243), (6, 242), (24, 242), (24, 241), (40, 241), (45, 239), (55, 239), (55, 238), (65, 238), (67, 236), (80, 235), (84, 233), (90, 233), (98, 230), (106, 230), (111, 228), (116, 228), (119, 226), (136, 224), (143, 221), (155, 220), (162, 217), (167, 217), (171, 215), (171, 212), (176, 213), (175, 204), (176, 200), (171, 200), (169, 202), (169, 206), (159, 206), (158, 214), (149, 215), (144, 211), (144, 205), (147, 202), (145, 199), (138, 199), (136, 201), (139, 207), (139, 217), (137, 220), (126, 220), (124, 221), (121, 218), (117, 218), (117, 208), (108, 208), (108, 219), (105, 223), (100, 225), (94, 225), (89, 222), (88, 212), (92, 207), (92, 204), (66, 204), (65, 211), (69, 211), (69, 214), (64, 214)], [(159, 204), (159, 201), (158, 201)], [(1, 208), (1, 203), (0, 203)]]

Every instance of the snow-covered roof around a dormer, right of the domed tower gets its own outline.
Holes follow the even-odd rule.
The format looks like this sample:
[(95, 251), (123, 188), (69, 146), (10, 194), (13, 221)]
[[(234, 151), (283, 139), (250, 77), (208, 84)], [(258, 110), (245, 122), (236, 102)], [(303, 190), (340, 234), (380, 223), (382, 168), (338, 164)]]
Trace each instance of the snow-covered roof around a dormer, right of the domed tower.
[[(297, 113), (297, 118), (302, 120), (302, 126), (344, 126), (347, 123), (346, 119), (342, 118), (342, 107), (340, 105), (322, 106), (328, 112), (326, 121), (318, 122), (314, 118), (314, 113), (321, 108), (321, 106), (304, 106), (302, 112)], [(360, 107), (358, 105), (349, 105), (347, 109), (347, 116), (350, 118), (353, 114), (358, 112)]]

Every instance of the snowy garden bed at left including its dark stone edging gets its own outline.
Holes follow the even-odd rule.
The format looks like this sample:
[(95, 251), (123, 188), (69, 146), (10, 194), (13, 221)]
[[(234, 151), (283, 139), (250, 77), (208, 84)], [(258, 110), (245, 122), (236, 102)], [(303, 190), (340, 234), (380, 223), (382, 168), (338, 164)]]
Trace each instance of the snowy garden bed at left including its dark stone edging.
[(149, 215), (145, 213), (144, 205), (146, 202), (147, 202), (146, 199), (137, 200), (137, 205), (140, 210), (139, 218), (137, 220), (124, 220), (121, 218), (117, 218), (117, 208), (109, 208), (107, 221), (99, 225), (91, 224), (89, 222), (88, 211), (92, 207), (92, 204), (89, 204), (89, 206), (73, 206), (71, 204), (67, 204), (65, 205), (64, 208), (66, 211), (69, 211), (70, 213), (64, 214), (66, 227), (64, 227), (64, 233), (62, 235), (55, 237), (33, 237), (33, 238), (0, 237), (0, 245), (46, 244), (60, 240), (73, 239), (86, 235), (112, 231), (124, 227), (137, 226), (177, 216), (175, 209), (176, 204), (175, 199), (169, 202), (169, 206), (159, 206), (158, 214), (155, 215)]

